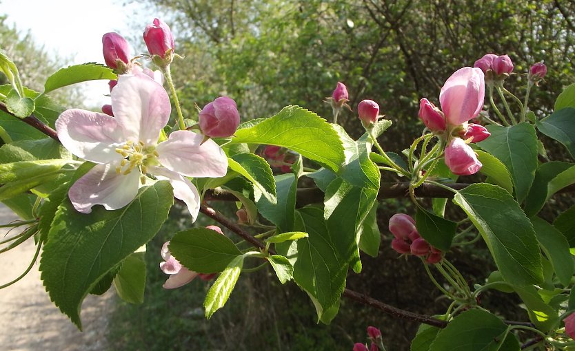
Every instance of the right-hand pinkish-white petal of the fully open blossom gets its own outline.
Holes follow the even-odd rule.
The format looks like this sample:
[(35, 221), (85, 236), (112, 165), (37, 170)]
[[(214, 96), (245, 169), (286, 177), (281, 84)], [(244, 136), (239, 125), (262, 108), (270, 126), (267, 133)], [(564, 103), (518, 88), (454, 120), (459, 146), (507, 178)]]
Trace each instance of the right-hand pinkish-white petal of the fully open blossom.
[[(223, 177), (228, 171), (228, 158), (214, 142), (192, 131), (174, 131), (156, 151), (158, 160), (167, 169), (187, 177)], [(201, 145), (200, 145), (201, 144)]]

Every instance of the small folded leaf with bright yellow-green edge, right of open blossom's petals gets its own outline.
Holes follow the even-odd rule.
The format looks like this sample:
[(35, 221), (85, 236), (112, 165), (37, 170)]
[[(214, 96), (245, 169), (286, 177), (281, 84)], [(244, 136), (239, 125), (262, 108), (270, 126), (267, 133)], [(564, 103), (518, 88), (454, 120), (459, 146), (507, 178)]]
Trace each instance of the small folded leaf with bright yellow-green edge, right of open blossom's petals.
[(228, 161), (232, 171), (236, 171), (250, 180), (254, 187), (259, 189), (272, 204), (277, 201), (274, 173), (272, 173), (268, 162), (253, 153), (239, 153), (231, 159), (228, 158)]

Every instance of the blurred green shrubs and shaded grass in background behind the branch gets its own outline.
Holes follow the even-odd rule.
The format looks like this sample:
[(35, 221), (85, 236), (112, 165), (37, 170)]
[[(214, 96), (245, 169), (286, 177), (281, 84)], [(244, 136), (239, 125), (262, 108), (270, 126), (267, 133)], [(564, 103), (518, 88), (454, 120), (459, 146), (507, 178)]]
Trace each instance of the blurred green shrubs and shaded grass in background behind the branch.
[[(330, 120), (331, 108), (323, 100), (342, 81), (354, 109), (364, 98), (379, 103), (382, 113), (394, 122), (393, 132), (381, 138), (383, 145), (401, 151), (423, 129), (417, 118), (419, 99), (425, 96), (438, 104), (443, 82), (483, 54), (512, 58), (516, 74), (507, 87), (514, 87), (511, 90), (519, 98), (525, 94), (530, 65), (539, 61), (547, 65), (545, 81), (532, 90), (529, 103), (540, 117), (552, 109), (562, 87), (575, 81), (572, 1), (147, 2), (172, 17), (164, 20), (174, 28), (176, 52), (185, 56), (174, 61), (172, 72), (189, 118), (196, 118), (194, 103), (202, 107), (217, 96), (228, 95), (236, 100), (245, 120), (270, 116), (290, 104)], [(345, 111), (339, 119), (352, 136), (363, 133), (354, 113)], [(440, 294), (421, 262), (413, 257), (397, 259), (389, 249), (387, 220), (406, 206), (403, 200), (380, 204), (378, 222), (385, 235), (380, 256), (363, 257), (363, 272), (350, 275), (348, 286), (387, 304), (433, 315), (445, 310), (445, 300), (436, 300)], [(448, 211), (453, 211), (452, 206)], [(143, 307), (124, 306), (131, 311), (121, 309), (119, 314), (127, 328), (115, 332), (125, 332), (130, 341), (145, 338), (140, 349), (350, 350), (354, 342), (365, 341), (365, 327), (374, 325), (382, 329), (388, 350), (409, 350), (417, 328), (416, 323), (393, 319), (346, 299), (330, 326), (316, 326), (305, 293), (294, 284), (279, 286), (267, 271), (242, 275), (228, 306), (200, 327), (196, 320), (203, 318), (201, 312), (190, 311), (201, 307), (207, 286), (194, 281), (179, 290), (158, 292), (164, 277), (157, 268), (159, 255), (150, 255), (155, 262), (150, 267), (154, 273), (148, 272), (152, 295)], [(455, 249), (449, 258), (468, 281), (483, 281), (490, 270), (486, 267), (493, 268), (481, 242)], [(489, 292), (481, 303), (505, 311), (510, 319), (527, 318), (514, 295)], [(163, 317), (151, 321), (158, 313), (166, 318), (177, 316), (178, 321)], [(130, 314), (149, 326), (130, 324), (126, 317)], [(112, 330), (117, 325), (113, 323)], [(138, 349), (128, 348), (128, 343), (121, 346)]]

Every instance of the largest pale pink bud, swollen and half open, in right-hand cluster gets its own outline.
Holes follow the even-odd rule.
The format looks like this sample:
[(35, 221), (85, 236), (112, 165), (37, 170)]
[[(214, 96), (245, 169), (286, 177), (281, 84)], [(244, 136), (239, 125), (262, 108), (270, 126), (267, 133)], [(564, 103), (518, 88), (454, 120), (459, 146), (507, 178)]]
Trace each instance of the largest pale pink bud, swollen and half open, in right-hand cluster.
[(441, 110), (450, 125), (461, 125), (483, 109), (485, 75), (479, 68), (463, 67), (445, 81), (439, 93)]

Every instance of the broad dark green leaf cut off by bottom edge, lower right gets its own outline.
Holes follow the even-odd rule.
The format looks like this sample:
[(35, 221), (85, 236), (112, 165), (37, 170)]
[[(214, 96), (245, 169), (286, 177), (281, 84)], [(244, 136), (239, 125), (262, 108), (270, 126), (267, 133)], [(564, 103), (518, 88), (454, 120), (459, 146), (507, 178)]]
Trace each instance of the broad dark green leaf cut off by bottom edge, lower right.
[[(438, 332), (430, 351), (503, 350), (500, 345), (503, 344), (505, 335), (507, 326), (498, 317), (484, 310), (467, 310)], [(505, 351), (507, 350), (514, 348), (506, 348)]]

